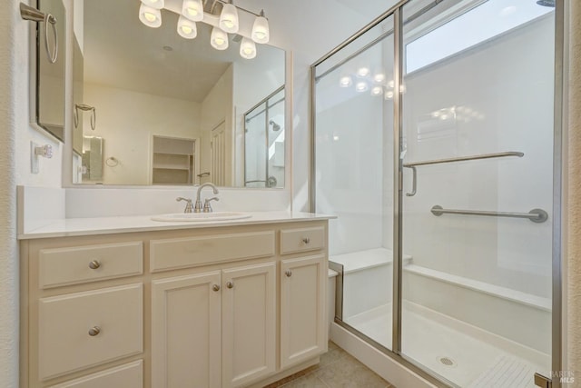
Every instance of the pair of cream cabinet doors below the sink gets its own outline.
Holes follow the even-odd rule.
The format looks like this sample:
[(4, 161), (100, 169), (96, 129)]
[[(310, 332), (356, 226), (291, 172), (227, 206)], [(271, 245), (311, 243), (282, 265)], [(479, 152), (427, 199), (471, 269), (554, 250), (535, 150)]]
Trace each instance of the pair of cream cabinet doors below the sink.
[(153, 387), (238, 387), (274, 373), (275, 276), (269, 262), (153, 281)]

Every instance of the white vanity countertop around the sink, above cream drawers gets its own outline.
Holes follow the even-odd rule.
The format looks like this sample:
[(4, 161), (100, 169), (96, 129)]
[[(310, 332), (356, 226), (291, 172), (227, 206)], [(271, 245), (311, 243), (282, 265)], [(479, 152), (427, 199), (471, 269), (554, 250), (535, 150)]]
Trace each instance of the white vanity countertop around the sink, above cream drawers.
[(204, 222), (165, 222), (153, 221), (153, 215), (132, 215), (97, 218), (66, 218), (46, 221), (40, 226), (25, 227), (25, 232), (18, 234), (19, 240), (47, 237), (65, 237), (92, 234), (119, 234), (132, 232), (150, 232), (175, 229), (211, 228), (218, 226), (276, 224), (282, 222), (300, 222), (312, 220), (329, 220), (336, 218), (329, 214), (300, 212), (248, 212), (252, 216), (239, 220), (204, 221)]

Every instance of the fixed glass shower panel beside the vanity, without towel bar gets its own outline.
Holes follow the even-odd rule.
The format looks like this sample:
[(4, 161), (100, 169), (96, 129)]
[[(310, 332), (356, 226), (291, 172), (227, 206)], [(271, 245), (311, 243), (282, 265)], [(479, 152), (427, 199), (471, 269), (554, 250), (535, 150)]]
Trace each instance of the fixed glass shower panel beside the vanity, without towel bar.
[(316, 211), (343, 270), (340, 319), (391, 349), (393, 17), (316, 67)]

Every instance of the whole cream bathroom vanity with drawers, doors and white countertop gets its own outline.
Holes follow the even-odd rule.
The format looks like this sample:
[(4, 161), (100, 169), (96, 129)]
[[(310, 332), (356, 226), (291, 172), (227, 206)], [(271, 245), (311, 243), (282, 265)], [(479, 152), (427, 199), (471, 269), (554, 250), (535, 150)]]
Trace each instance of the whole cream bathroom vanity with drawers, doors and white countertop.
[(328, 218), (110, 217), (21, 234), (21, 387), (264, 386), (318, 363)]

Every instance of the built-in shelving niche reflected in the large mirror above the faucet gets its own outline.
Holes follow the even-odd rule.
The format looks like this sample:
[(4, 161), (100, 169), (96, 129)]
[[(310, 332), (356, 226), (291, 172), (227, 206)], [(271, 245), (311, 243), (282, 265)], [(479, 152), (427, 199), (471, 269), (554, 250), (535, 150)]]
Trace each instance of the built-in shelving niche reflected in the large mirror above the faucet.
[(196, 140), (153, 136), (152, 184), (195, 184)]

